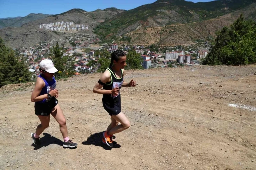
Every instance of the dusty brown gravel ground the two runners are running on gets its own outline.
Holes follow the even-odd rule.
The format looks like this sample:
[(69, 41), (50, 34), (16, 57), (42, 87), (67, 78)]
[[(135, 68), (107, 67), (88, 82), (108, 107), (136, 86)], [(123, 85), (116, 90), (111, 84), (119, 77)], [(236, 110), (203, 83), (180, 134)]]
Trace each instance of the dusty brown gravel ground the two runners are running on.
[[(59, 105), (77, 149), (63, 149), (59, 124), (35, 147), (40, 123), (30, 101), (33, 85), (0, 88), (2, 169), (255, 170), (256, 65), (128, 70), (135, 88), (122, 88), (122, 111), (131, 126), (113, 148), (101, 143), (110, 124), (102, 95), (92, 92), (100, 74), (57, 81)], [(22, 142), (21, 142), (22, 141)], [(113, 161), (117, 160), (117, 161)]]

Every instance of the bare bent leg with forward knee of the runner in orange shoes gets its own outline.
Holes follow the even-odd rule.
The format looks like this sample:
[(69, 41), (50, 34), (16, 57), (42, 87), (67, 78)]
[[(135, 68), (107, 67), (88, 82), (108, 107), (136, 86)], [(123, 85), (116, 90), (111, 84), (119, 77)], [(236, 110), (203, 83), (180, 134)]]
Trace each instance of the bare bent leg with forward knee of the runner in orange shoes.
[(130, 122), (126, 118), (126, 116), (123, 114), (123, 112), (119, 113), (118, 115), (112, 115), (111, 118), (115, 119), (116, 121), (120, 122), (121, 125), (118, 125), (114, 128), (112, 128), (110, 131), (108, 131), (108, 135), (113, 135), (115, 133), (122, 132), (123, 130), (126, 130), (130, 127)]

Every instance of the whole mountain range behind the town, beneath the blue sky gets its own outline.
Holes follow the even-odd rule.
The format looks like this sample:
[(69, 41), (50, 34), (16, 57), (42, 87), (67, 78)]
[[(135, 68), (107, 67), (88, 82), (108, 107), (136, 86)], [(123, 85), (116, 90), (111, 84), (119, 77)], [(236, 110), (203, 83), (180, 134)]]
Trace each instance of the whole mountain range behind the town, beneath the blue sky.
[[(233, 23), (241, 13), (246, 19), (256, 20), (256, 0), (197, 3), (157, 0), (128, 11), (112, 7), (92, 12), (72, 9), (57, 15), (41, 14), (42, 18), (31, 20), (21, 27), (1, 29), (0, 36), (11, 47), (32, 46), (40, 41), (63, 38), (64, 35), (40, 30), (39, 23), (74, 21), (75, 24), (89, 26), (89, 30), (81, 33), (97, 34), (105, 42), (115, 38), (117, 42), (129, 44), (184, 45), (192, 44), (197, 39), (214, 37), (215, 31)], [(18, 19), (17, 24), (13, 22), (9, 26), (21, 25)], [(5, 19), (0, 19), (0, 24), (2, 20)]]

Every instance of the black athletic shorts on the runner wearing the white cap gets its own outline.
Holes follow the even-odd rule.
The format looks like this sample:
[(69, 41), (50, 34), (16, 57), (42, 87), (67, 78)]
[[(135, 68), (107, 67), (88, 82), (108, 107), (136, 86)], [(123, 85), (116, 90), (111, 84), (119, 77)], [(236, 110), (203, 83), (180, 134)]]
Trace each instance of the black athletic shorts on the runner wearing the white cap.
[(45, 103), (35, 102), (35, 114), (37, 116), (48, 116), (57, 104), (58, 100), (55, 97)]

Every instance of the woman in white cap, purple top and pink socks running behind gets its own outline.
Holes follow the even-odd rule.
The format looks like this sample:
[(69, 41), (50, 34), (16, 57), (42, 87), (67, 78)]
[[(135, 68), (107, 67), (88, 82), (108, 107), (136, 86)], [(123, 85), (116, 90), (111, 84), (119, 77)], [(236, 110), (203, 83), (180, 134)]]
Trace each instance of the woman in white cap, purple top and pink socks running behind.
[(64, 139), (63, 146), (76, 147), (77, 144), (69, 140), (66, 119), (56, 99), (56, 97), (59, 96), (59, 92), (56, 89), (54, 73), (58, 70), (49, 59), (42, 60), (39, 67), (42, 74), (40, 74), (36, 80), (36, 85), (31, 95), (31, 101), (35, 102), (35, 114), (38, 116), (41, 124), (37, 126), (35, 133), (31, 133), (33, 142), (35, 145), (41, 145), (39, 135), (45, 128), (49, 127), (51, 114), (60, 124), (60, 131)]

